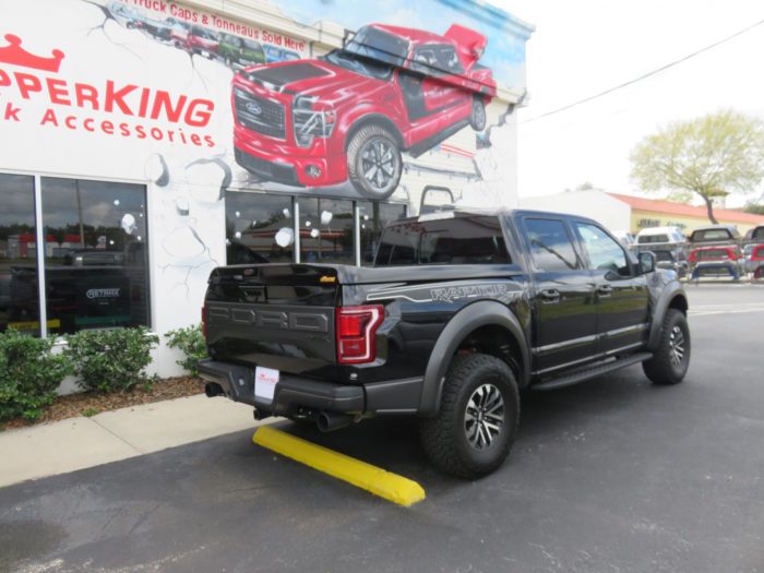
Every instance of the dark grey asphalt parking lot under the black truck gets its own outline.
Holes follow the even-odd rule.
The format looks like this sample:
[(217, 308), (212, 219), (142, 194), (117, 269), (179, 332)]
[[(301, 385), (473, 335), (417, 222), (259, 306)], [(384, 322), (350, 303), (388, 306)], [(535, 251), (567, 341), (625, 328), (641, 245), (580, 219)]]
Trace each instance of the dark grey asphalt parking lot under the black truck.
[(633, 367), (527, 394), (482, 480), (432, 470), (410, 420), (285, 422), (427, 499), (399, 508), (237, 432), (0, 489), (0, 571), (764, 572), (764, 286), (688, 293), (684, 383)]

